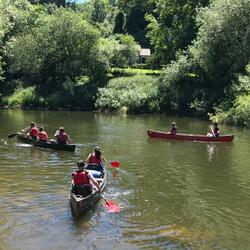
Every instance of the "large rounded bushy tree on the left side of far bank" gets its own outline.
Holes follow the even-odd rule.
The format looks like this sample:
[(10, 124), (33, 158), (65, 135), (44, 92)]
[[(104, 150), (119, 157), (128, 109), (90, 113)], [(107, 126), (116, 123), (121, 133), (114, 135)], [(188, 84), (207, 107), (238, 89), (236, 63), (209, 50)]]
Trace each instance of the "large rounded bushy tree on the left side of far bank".
[[(12, 39), (7, 46), (10, 71), (43, 95), (70, 90), (77, 77), (98, 82), (105, 65), (98, 57), (98, 32), (81, 16), (58, 9), (44, 15), (39, 26)], [(70, 91), (68, 91), (70, 92)]]

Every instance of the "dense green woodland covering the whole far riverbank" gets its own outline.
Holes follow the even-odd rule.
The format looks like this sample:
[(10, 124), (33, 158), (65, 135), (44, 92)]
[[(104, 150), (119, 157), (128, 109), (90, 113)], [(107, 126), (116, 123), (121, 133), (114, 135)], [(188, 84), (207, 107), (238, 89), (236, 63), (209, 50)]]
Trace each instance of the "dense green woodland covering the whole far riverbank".
[(0, 0), (0, 105), (249, 126), (250, 1)]

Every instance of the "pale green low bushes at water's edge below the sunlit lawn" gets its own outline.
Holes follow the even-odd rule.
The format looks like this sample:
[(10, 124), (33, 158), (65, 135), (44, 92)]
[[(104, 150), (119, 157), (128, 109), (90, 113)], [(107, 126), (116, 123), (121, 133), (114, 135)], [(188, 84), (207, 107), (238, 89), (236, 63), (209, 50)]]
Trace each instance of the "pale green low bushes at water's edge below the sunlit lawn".
[(96, 107), (102, 110), (129, 112), (158, 111), (156, 78), (152, 76), (121, 77), (109, 81), (99, 89)]

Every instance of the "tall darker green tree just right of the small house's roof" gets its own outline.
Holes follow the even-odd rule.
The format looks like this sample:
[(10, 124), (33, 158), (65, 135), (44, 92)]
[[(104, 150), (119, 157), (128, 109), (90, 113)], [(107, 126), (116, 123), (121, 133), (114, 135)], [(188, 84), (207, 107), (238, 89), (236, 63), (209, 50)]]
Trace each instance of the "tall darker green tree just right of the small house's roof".
[(153, 46), (155, 64), (167, 64), (178, 50), (187, 49), (197, 33), (197, 9), (207, 6), (209, 0), (159, 0), (149, 22), (147, 37)]

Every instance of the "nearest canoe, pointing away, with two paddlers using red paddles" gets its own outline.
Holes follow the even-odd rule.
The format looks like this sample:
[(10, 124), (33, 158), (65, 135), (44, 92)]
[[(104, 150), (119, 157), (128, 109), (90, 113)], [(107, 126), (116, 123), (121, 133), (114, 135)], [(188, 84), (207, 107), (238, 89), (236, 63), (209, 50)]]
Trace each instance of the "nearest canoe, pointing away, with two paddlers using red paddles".
[[(101, 165), (97, 164), (88, 164), (86, 166), (86, 169), (88, 170), (94, 170), (94, 171), (99, 171), (103, 169), (103, 174), (101, 178), (95, 178), (100, 185), (101, 192), (105, 189), (106, 186), (106, 171), (105, 168), (102, 167)], [(71, 209), (73, 213), (76, 216), (84, 214), (86, 211), (90, 210), (94, 204), (99, 201), (101, 198), (100, 193), (93, 189), (92, 194), (86, 197), (82, 197), (81, 195), (75, 195), (74, 193), (70, 193), (69, 195), (69, 201), (71, 205)]]

